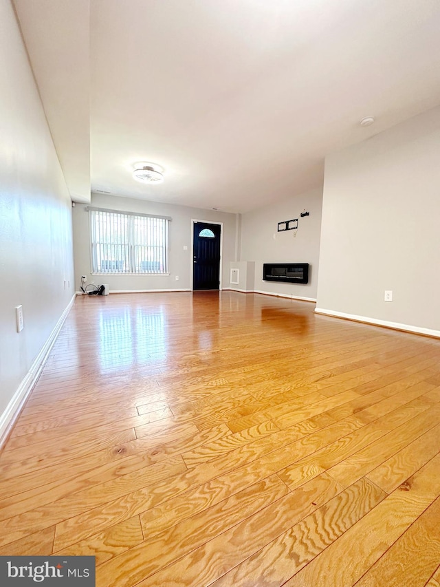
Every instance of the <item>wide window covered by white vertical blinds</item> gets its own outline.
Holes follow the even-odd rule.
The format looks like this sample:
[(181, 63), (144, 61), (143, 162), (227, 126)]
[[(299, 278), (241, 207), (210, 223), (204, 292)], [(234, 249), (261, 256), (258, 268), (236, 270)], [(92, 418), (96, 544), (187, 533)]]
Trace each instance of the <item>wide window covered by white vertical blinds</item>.
[(168, 273), (168, 218), (89, 209), (93, 273)]

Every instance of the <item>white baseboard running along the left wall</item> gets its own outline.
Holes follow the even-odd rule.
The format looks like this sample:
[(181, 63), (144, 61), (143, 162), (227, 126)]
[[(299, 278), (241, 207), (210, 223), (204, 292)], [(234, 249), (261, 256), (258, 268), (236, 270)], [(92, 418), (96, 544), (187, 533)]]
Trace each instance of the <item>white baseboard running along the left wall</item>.
[(61, 314), (61, 317), (56, 323), (54, 330), (52, 330), (49, 338), (47, 341), (45, 341), (41, 351), (30, 366), (30, 370), (25, 374), (23, 381), (21, 381), (17, 391), (12, 396), (5, 411), (0, 415), (0, 448), (3, 446), (3, 442), (5, 442), (6, 438), (8, 438), (10, 429), (14, 425), (15, 420), (17, 420), (25, 401), (28, 399), (28, 396), (32, 391), (32, 387), (34, 387), (37, 379), (39, 378), (50, 351), (52, 350), (56, 337), (58, 336), (58, 332), (60, 332), (61, 327), (67, 318), (67, 314), (69, 314), (70, 309), (74, 305), (75, 298), (76, 294), (67, 304), (67, 308), (65, 308), (63, 314)]

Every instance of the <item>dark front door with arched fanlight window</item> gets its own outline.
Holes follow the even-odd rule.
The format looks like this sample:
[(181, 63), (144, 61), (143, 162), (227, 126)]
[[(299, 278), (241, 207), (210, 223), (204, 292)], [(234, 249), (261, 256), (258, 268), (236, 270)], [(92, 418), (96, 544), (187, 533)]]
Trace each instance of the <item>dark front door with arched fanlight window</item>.
[(220, 287), (220, 233), (219, 224), (194, 223), (192, 287), (195, 290)]

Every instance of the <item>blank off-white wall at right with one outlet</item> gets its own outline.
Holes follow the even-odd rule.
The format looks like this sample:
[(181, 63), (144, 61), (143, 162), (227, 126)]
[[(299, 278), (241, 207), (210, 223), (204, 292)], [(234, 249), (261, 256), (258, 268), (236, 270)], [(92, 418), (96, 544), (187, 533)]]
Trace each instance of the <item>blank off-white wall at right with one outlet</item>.
[(439, 186), (440, 108), (327, 157), (319, 309), (440, 331)]

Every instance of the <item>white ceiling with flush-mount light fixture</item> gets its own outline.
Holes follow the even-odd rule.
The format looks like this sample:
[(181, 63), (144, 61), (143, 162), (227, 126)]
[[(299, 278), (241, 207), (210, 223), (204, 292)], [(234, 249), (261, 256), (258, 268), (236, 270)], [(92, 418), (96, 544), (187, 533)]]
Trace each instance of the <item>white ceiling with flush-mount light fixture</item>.
[[(14, 3), (77, 201), (89, 141), (92, 191), (244, 212), (440, 103), (438, 0)], [(133, 180), (137, 161), (164, 182)]]

